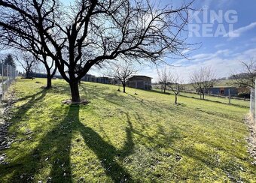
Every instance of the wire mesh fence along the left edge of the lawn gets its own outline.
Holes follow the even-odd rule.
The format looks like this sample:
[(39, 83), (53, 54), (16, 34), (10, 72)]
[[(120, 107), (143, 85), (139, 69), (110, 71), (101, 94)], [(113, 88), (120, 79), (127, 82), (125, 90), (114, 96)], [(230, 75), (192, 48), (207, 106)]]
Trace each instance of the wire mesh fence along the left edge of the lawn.
[(0, 98), (5, 98), (5, 93), (11, 86), (11, 83), (17, 77), (17, 70), (11, 65), (0, 63)]

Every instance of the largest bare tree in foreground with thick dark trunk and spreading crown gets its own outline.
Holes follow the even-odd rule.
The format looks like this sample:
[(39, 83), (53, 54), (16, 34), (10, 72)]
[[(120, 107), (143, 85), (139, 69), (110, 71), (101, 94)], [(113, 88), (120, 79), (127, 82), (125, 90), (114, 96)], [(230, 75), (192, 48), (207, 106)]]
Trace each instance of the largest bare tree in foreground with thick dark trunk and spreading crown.
[(72, 101), (81, 101), (78, 82), (93, 65), (120, 56), (157, 62), (182, 55), (192, 2), (174, 8), (148, 0), (76, 0), (67, 7), (57, 0), (1, 0), (0, 32), (42, 47), (69, 83)]

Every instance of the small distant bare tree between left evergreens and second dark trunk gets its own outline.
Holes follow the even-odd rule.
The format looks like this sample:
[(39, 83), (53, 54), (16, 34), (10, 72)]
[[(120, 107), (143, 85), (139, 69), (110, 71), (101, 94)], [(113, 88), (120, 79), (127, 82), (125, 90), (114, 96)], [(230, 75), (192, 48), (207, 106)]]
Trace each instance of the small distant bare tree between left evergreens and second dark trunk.
[(31, 78), (32, 70), (37, 66), (38, 61), (33, 57), (33, 55), (29, 54), (29, 52), (21, 52), (20, 55), (16, 56), (17, 62), (25, 70), (25, 78)]

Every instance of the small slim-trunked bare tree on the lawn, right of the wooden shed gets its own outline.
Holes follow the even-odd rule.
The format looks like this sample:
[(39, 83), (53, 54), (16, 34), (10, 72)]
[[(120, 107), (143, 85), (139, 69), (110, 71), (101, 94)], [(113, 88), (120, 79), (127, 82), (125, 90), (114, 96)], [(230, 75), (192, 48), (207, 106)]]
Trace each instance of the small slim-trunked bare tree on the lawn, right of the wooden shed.
[(182, 90), (184, 90), (184, 84), (181, 77), (179, 77), (178, 74), (170, 74), (168, 87), (172, 89), (172, 92), (175, 95), (175, 104), (178, 104), (178, 95)]

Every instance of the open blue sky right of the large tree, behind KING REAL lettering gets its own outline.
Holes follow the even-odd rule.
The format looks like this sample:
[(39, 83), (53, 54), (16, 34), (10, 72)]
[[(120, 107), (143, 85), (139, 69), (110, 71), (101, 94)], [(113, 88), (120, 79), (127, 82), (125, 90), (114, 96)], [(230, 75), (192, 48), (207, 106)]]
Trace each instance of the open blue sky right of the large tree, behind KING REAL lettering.
[[(160, 0), (160, 5), (172, 3), (173, 7), (178, 7), (181, 2)], [(165, 58), (184, 83), (189, 83), (190, 74), (203, 66), (212, 67), (216, 77), (221, 78), (242, 71), (239, 61), (256, 60), (255, 0), (195, 0), (193, 7), (197, 13), (190, 13), (190, 23), (184, 36), (189, 35), (187, 43), (198, 43), (193, 47), (197, 49), (184, 50), (187, 58)], [(195, 27), (197, 29), (193, 29)], [(160, 65), (158, 68), (163, 67)], [(155, 65), (138, 65), (138, 69), (138, 74), (152, 77), (153, 82), (157, 82)], [(102, 72), (93, 69), (90, 74), (101, 76)]]

